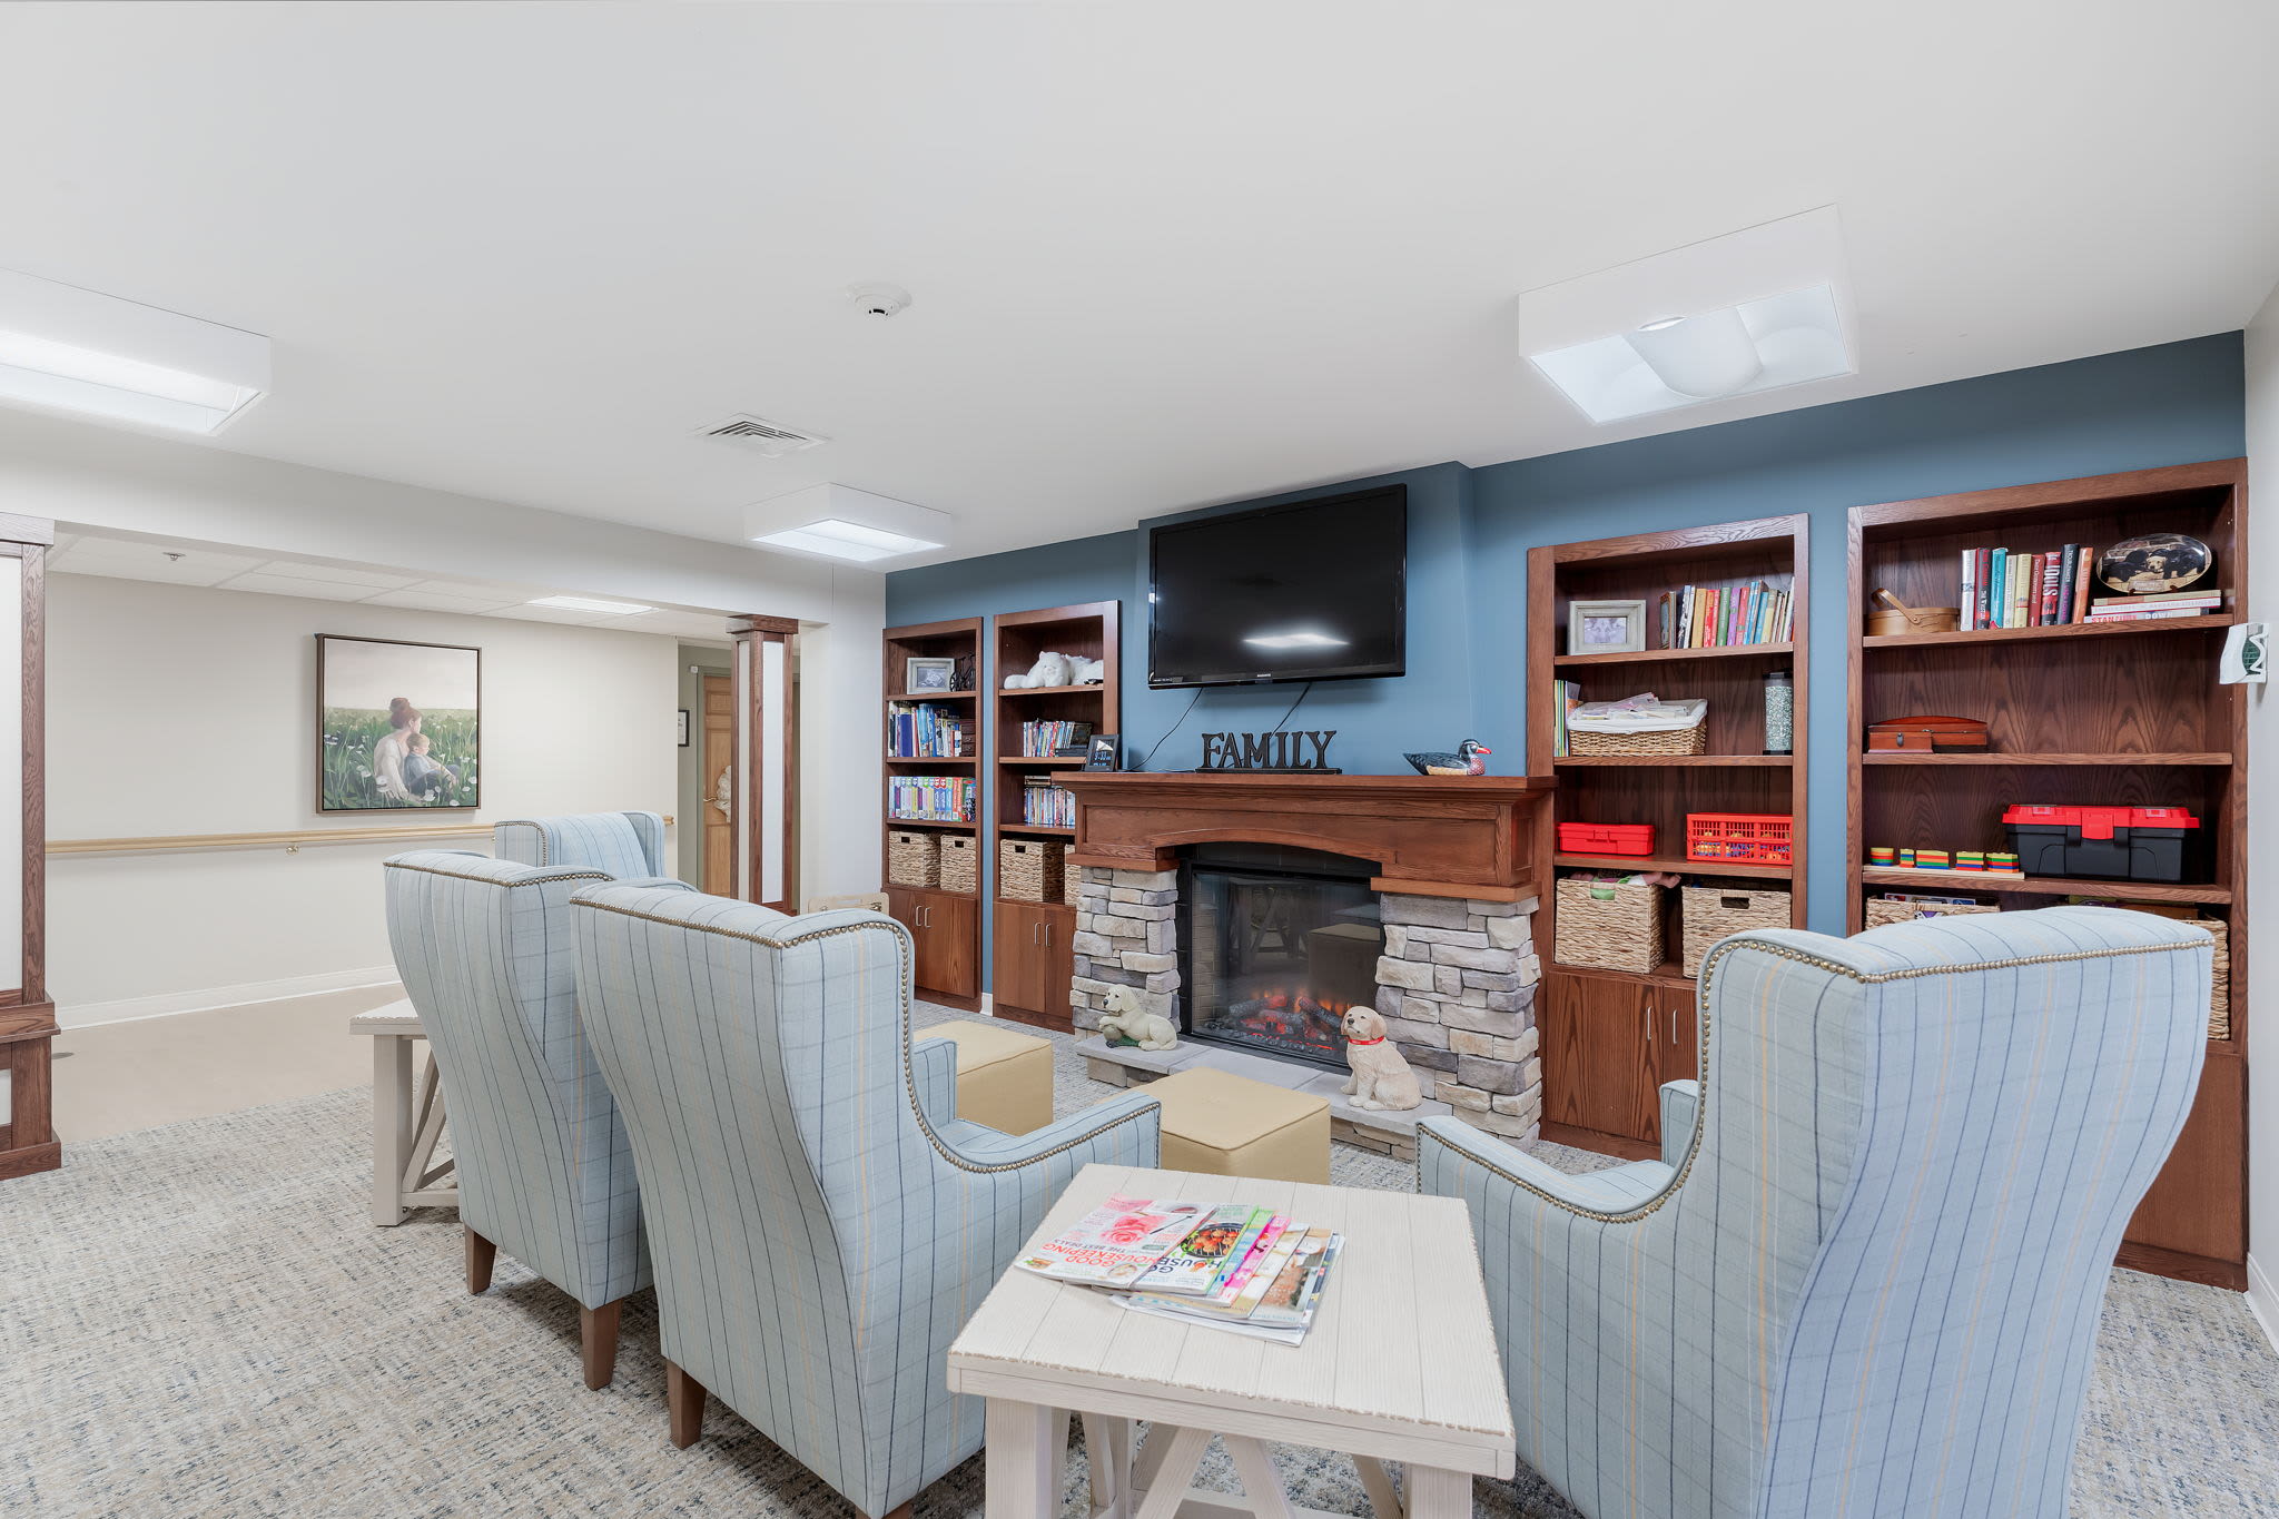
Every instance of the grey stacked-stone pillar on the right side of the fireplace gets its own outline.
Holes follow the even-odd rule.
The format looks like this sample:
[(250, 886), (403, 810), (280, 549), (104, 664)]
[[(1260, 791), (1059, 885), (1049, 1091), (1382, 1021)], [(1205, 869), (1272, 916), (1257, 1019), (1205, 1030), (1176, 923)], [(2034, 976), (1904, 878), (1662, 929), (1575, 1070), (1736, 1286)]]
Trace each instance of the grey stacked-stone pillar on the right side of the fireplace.
[(1543, 1123), (1536, 904), (1388, 893), (1379, 906), (1377, 1011), (1424, 1093), (1490, 1134), (1534, 1139)]

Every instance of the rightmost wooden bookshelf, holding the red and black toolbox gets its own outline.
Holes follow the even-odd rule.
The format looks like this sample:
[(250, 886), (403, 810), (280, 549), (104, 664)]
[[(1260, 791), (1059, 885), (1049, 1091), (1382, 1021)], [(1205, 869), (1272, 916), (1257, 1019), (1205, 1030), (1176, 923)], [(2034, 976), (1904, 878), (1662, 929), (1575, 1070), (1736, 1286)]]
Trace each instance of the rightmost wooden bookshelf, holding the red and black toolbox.
[[(1876, 588), (1953, 606), (1964, 549), (2106, 549), (2188, 533), (2215, 551), (2224, 606), (2204, 617), (1867, 638)], [(2231, 925), (2229, 1038), (2208, 1041), (2183, 1136), (2129, 1225), (2119, 1262), (2247, 1282), (2247, 701), (2217, 685), (2222, 631), (2245, 617), (2247, 462), (2217, 460), (1851, 510), (1851, 927), (1869, 895), (1919, 890), (2024, 911), (2062, 897), (2188, 904)], [(1867, 724), (1980, 717), (1990, 752), (1869, 754)], [(2188, 806), (2183, 881), (1928, 879), (1867, 865), (1871, 845), (2008, 849), (2010, 804)]]

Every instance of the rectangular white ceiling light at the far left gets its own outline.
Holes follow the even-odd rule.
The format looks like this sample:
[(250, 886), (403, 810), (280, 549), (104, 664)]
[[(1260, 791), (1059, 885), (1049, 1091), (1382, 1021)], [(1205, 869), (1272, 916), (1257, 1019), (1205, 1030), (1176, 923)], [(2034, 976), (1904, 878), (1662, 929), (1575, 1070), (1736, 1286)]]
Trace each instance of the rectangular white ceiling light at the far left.
[(267, 337), (0, 269), (0, 403), (217, 433), (267, 389)]

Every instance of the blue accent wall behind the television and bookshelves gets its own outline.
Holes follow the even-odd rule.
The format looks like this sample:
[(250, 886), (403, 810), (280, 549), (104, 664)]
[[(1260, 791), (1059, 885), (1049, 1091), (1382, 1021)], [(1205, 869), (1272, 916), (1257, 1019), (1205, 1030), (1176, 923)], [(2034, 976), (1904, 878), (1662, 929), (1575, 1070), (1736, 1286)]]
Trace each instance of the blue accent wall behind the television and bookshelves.
[[(1810, 512), (1810, 920), (1839, 934), (1846, 512), (1871, 501), (2245, 451), (2240, 335), (2220, 332), (1484, 469), (1436, 465), (1206, 510), (1408, 485), (1408, 674), (1324, 681), (1290, 720), (1299, 729), (1338, 729), (1331, 763), (1365, 774), (1406, 772), (1402, 752), (1447, 749), (1461, 738), (1495, 749), (1495, 772), (1525, 772), (1529, 547)], [(1149, 770), (1187, 770), (1201, 761), (1196, 733), (1276, 726), (1299, 688), (1146, 688), (1149, 526), (889, 574), (887, 622), (1121, 599), (1126, 763), (1146, 756)], [(1162, 742), (1174, 724), (1178, 733)]]

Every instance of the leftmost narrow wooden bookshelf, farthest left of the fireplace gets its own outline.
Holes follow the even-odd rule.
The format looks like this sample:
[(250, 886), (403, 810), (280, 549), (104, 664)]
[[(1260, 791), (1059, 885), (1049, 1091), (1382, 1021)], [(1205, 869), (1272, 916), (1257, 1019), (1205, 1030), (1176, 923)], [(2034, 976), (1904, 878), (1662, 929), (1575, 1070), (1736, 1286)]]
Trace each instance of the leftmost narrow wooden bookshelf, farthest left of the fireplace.
[[(912, 777), (912, 774), (950, 774), (950, 777), (973, 777), (980, 770), (980, 756), (985, 754), (987, 736), (980, 724), (980, 708), (973, 690), (905, 690), (905, 674), (912, 658), (962, 658), (971, 660), (973, 679), (987, 679), (982, 670), (982, 619), (959, 617), (953, 622), (918, 622), (900, 629), (887, 629), (884, 633), (884, 667), (882, 688), (896, 695), (887, 697), (880, 713), (887, 754), (887, 777)], [(896, 754), (893, 742), (893, 708), (907, 704), (928, 704), (939, 708), (946, 717), (955, 717), (966, 724), (966, 740), (962, 756), (907, 756)], [(987, 856), (982, 849), (982, 822), (980, 808), (985, 804), (985, 786), (975, 786), (973, 799), (973, 822), (934, 822), (923, 818), (896, 818), (893, 808), (882, 808), (887, 813), (884, 829), (880, 834), (880, 875), (887, 875), (887, 831), (898, 829), (921, 829), (941, 834), (944, 838), (971, 838), (975, 854)], [(989, 861), (975, 861), (975, 890), (946, 890), (939, 886), (896, 886), (887, 879), (887, 911), (918, 947), (916, 963), (916, 986), (918, 995), (928, 1002), (941, 1002), (944, 1007), (955, 1007), (962, 1011), (973, 1011), (982, 1004), (982, 897), (980, 884), (989, 879)]]

